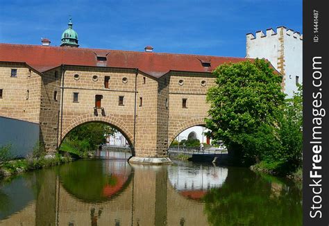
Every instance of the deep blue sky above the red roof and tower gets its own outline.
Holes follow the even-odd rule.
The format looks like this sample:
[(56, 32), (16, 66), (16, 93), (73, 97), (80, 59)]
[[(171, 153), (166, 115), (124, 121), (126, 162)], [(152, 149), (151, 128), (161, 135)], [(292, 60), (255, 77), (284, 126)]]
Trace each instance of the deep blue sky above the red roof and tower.
[(302, 33), (301, 0), (1, 0), (0, 42), (59, 46), (69, 15), (84, 48), (244, 57), (246, 33)]

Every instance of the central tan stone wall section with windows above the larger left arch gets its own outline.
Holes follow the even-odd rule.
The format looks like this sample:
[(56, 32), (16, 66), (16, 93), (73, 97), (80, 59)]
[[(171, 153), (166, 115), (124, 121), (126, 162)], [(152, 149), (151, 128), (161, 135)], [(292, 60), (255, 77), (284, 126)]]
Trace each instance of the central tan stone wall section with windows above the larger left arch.
[[(75, 75), (78, 76), (74, 77)], [(108, 88), (104, 87), (105, 76), (110, 76)], [(124, 78), (126, 80), (123, 80)], [(103, 121), (119, 129), (128, 138), (129, 143), (133, 144), (135, 70), (65, 67), (62, 86), (62, 124), (59, 141), (64, 139), (71, 129), (82, 123)], [(78, 93), (77, 102), (74, 102), (74, 93)], [(103, 110), (97, 109), (95, 112), (96, 95), (103, 96)], [(124, 96), (123, 105), (119, 105), (119, 96)]]

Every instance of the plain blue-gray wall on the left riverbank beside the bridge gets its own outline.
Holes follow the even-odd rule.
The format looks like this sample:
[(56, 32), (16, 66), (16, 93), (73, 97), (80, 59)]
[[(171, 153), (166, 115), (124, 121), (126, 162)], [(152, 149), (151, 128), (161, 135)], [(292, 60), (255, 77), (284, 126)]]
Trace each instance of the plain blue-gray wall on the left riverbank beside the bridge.
[(0, 147), (12, 144), (13, 157), (25, 157), (39, 141), (37, 123), (8, 119), (0, 116)]

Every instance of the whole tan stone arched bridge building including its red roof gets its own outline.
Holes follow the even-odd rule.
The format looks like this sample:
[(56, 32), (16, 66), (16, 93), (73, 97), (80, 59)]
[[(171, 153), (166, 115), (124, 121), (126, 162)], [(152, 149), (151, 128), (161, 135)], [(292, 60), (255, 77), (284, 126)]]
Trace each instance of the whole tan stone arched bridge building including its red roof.
[(56, 153), (83, 123), (103, 122), (128, 140), (132, 162), (170, 162), (175, 137), (204, 125), (214, 70), (244, 58), (0, 44), (0, 116), (40, 125)]

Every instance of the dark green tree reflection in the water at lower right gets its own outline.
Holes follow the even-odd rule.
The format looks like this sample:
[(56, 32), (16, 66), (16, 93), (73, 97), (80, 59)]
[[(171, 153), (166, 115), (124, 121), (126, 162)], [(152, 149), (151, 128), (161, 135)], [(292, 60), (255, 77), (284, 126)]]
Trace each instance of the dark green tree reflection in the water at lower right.
[[(238, 177), (243, 178), (243, 181)], [(211, 189), (204, 197), (209, 223), (301, 225), (301, 191), (296, 186), (290, 186), (289, 189), (280, 186), (282, 189), (276, 190), (273, 195), (272, 186), (271, 182), (255, 173), (230, 171), (226, 183), (219, 189)]]

